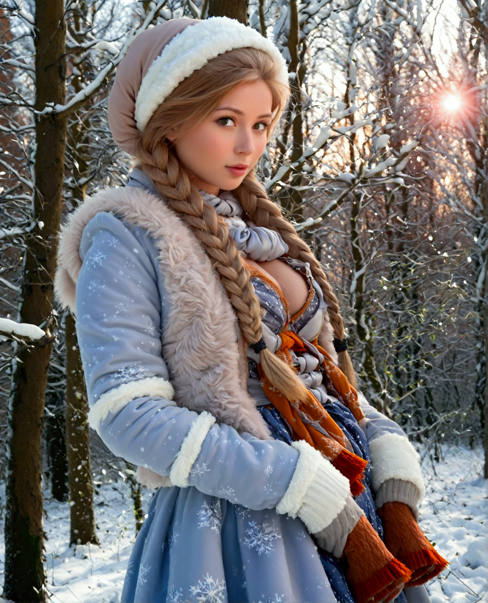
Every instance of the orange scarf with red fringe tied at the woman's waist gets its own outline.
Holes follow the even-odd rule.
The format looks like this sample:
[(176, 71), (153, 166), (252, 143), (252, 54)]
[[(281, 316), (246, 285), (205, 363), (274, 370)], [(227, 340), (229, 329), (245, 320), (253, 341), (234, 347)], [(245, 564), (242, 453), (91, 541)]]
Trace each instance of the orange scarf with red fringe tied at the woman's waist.
[[(295, 333), (284, 331), (280, 333), (280, 336), (282, 344), (276, 353), (288, 364), (292, 362), (290, 350), (300, 353), (309, 352), (303, 344), (303, 340)], [(317, 349), (324, 356), (322, 367), (326, 376), (331, 380), (334, 390), (338, 394), (337, 397), (350, 409), (356, 420), (360, 420), (364, 415), (357, 401), (356, 390), (349, 385), (344, 373), (335, 366), (325, 350), (318, 346)], [(349, 440), (331, 415), (311, 391), (306, 390), (305, 400), (288, 400), (270, 384), (262, 372), (260, 364), (258, 364), (258, 371), (266, 396), (290, 426), (295, 438), (305, 440), (320, 450), (332, 465), (349, 479), (351, 493), (354, 496), (360, 494), (364, 490), (361, 479), (363, 479), (367, 461), (352, 452)], [(358, 419), (358, 417), (360, 418)]]

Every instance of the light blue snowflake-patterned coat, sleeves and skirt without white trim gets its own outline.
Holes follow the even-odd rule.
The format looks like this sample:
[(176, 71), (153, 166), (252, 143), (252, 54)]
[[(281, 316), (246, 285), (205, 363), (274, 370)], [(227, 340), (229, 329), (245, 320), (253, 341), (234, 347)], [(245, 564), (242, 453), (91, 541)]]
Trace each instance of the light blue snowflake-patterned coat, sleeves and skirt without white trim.
[[(80, 257), (77, 334), (90, 407), (122, 384), (171, 381), (160, 341), (171, 308), (153, 239), (100, 212), (83, 230)], [(403, 435), (371, 406), (364, 410), (368, 440)], [(109, 412), (99, 430), (113, 453), (167, 476), (196, 417), (163, 397), (139, 397)], [(284, 441), (213, 425), (189, 487), (156, 491), (122, 601), (352, 602), (329, 581), (303, 522), (276, 513), (298, 456)]]

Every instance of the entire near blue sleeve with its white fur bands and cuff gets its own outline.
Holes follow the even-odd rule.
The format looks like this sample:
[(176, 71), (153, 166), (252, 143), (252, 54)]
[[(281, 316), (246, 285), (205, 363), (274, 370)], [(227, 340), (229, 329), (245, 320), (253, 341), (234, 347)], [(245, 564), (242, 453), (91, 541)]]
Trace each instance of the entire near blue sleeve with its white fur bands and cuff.
[(101, 212), (84, 229), (80, 256), (77, 334), (89, 421), (107, 447), (179, 487), (255, 510), (276, 507), (314, 532), (329, 525), (349, 481), (317, 450), (238, 434), (173, 401), (160, 342), (164, 275), (147, 233)]

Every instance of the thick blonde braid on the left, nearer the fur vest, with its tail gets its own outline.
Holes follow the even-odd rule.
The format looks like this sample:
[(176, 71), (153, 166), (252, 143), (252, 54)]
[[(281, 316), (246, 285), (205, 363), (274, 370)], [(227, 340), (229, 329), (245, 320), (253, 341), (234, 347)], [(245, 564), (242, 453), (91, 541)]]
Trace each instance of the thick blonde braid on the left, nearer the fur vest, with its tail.
[[(239, 326), (246, 343), (252, 346), (262, 338), (260, 304), (250, 281), (249, 270), (237, 251), (229, 228), (215, 209), (204, 203), (197, 188), (180, 164), (174, 151), (163, 140), (151, 144), (142, 136), (136, 145), (135, 156), (141, 168), (156, 186), (166, 203), (182, 219), (203, 244), (214, 260), (230, 302), (236, 311)], [(268, 349), (259, 352), (259, 362), (265, 376), (289, 400), (304, 400), (308, 395), (293, 369)]]

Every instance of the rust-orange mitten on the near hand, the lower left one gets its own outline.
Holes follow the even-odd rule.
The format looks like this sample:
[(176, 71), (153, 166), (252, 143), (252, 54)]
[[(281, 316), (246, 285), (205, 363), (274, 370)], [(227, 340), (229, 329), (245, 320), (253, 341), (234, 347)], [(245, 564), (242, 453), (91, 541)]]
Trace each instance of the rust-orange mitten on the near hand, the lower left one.
[(344, 554), (358, 603), (393, 601), (410, 579), (410, 570), (393, 557), (364, 516), (350, 532)]

